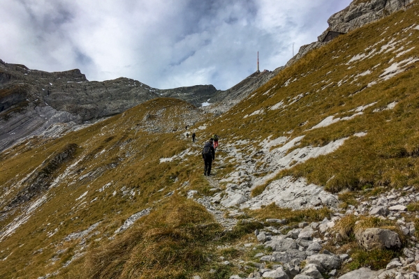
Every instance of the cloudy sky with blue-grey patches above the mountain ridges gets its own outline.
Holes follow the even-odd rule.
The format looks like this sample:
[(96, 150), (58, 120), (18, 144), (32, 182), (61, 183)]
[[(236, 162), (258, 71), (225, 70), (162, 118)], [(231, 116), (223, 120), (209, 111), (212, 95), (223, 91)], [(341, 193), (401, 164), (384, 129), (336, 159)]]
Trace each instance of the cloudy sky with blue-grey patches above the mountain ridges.
[(226, 90), (314, 42), (351, 0), (0, 0), (0, 59), (88, 80)]

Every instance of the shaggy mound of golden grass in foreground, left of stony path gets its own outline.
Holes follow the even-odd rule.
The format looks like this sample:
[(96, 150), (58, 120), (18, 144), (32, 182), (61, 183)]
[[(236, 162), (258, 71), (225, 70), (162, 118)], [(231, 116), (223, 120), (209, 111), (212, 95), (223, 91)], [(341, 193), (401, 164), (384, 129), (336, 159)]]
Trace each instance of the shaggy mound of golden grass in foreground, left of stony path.
[(218, 225), (203, 206), (173, 196), (140, 225), (87, 256), (84, 278), (185, 278), (207, 263)]

